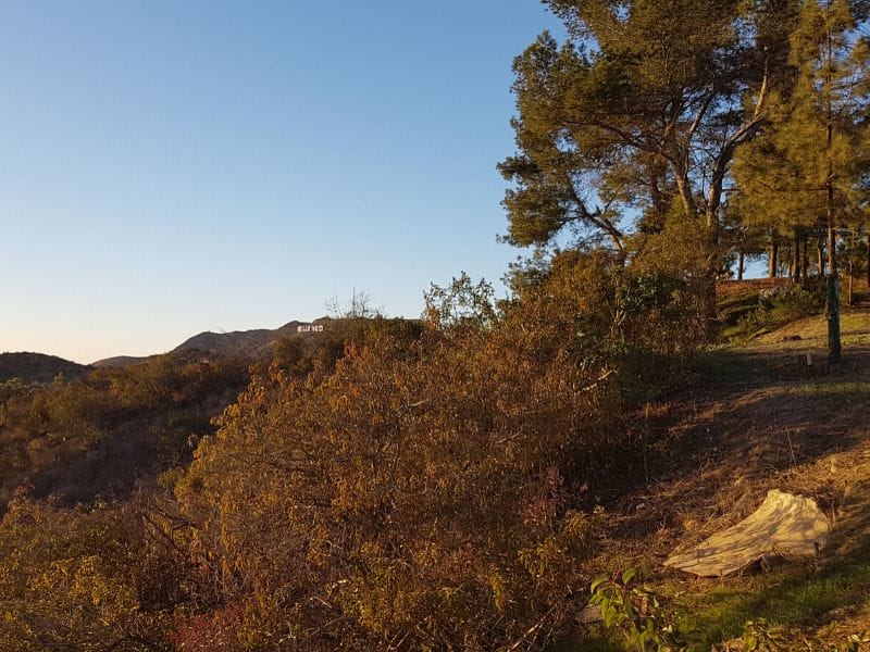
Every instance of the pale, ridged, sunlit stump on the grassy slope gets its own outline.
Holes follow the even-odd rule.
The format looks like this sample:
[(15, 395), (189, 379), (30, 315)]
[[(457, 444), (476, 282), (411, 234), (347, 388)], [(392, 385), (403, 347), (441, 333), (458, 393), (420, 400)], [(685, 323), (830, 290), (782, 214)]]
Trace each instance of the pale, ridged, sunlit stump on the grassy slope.
[(815, 554), (826, 536), (828, 519), (815, 500), (771, 489), (750, 516), (687, 553), (672, 553), (664, 565), (703, 577), (719, 577), (771, 553)]

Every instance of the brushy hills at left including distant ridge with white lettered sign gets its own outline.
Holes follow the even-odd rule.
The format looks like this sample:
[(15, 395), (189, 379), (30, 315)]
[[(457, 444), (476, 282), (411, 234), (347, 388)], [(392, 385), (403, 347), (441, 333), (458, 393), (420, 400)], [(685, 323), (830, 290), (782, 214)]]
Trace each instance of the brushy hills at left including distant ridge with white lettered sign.
[[(274, 330), (201, 334), (175, 351), (119, 356), (90, 366), (36, 353), (0, 363), (23, 384), (0, 384), (0, 515), (16, 488), (59, 504), (128, 496), (137, 482), (184, 460), (211, 419), (236, 401), (256, 364), (268, 358), (293, 374), (335, 366), (345, 336), (362, 337), (375, 321), (290, 322)], [(410, 324), (387, 321), (394, 328)], [(414, 331), (417, 333), (417, 331)], [(289, 347), (273, 351), (276, 341)], [(259, 348), (258, 348), (259, 342)], [(3, 367), (0, 367), (3, 368)], [(32, 387), (63, 372), (67, 383)], [(190, 436), (195, 439), (189, 440)]]

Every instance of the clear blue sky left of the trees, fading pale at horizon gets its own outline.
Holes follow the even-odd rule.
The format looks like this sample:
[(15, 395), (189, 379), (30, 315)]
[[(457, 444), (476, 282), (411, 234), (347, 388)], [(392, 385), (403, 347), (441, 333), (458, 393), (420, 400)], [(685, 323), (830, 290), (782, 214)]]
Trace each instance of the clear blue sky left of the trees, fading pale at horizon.
[(536, 0), (0, 1), (0, 351), (497, 281), (511, 62), (545, 28)]

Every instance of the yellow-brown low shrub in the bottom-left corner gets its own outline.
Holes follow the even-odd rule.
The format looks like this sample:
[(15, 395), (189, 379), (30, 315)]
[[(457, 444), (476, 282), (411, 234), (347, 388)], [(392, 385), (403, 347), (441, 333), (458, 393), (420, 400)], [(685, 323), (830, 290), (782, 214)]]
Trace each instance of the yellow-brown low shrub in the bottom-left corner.
[(126, 505), (60, 510), (16, 496), (0, 523), (0, 649), (167, 649), (171, 605), (149, 588), (158, 567), (177, 565), (159, 563), (139, 523)]

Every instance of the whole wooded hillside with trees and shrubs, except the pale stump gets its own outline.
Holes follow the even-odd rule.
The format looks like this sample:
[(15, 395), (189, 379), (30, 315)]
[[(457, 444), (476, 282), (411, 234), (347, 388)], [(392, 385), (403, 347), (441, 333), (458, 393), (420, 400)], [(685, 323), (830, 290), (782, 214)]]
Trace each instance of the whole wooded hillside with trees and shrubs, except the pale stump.
[[(0, 383), (0, 649), (859, 649), (870, 8), (545, 4), (507, 297)], [(780, 487), (830, 548), (661, 567)]]

